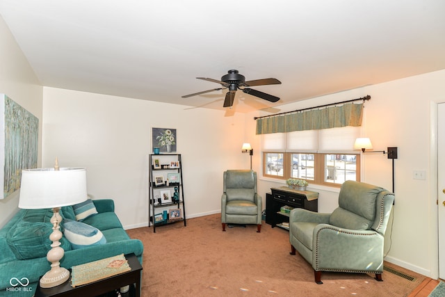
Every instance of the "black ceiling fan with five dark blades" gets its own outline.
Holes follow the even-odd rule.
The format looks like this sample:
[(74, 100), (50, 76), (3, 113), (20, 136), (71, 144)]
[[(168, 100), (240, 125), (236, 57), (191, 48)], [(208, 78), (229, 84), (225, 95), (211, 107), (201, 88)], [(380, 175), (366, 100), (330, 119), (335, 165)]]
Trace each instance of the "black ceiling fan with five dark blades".
[[(202, 92), (193, 93), (190, 95), (184, 95), (182, 96), (182, 98), (188, 98), (196, 95), (213, 92), (215, 90), (224, 90), (226, 88), (229, 88), (229, 92), (227, 92), (225, 95), (224, 105), (223, 105), (224, 107), (229, 107), (234, 104), (235, 93), (236, 90), (238, 89), (243, 90), (243, 92), (246, 94), (250, 94), (270, 102), (277, 102), (278, 100), (280, 100), (279, 97), (275, 97), (273, 95), (260, 92), (259, 90), (248, 88), (252, 86), (277, 85), (281, 83), (281, 81), (279, 81), (278, 79), (255, 79), (253, 81), (245, 81), (245, 77), (242, 74), (239, 74), (238, 70), (229, 70), (227, 74), (221, 77), (220, 81), (218, 81), (218, 79), (209, 79), (207, 77), (197, 77), (197, 79), (202, 79), (204, 81), (212, 81), (213, 83), (220, 83), (221, 86), (223, 86), (223, 88), (204, 90)], [(240, 87), (245, 87), (245, 88), (240, 88)]]

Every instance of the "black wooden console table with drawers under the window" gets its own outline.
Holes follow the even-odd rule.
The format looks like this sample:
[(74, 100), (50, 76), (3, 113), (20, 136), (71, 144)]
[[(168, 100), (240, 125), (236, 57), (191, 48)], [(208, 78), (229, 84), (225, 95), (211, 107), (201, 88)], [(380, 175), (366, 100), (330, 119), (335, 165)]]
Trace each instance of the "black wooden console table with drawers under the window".
[(277, 226), (289, 230), (289, 213), (281, 211), (284, 206), (318, 211), (317, 192), (298, 191), (286, 186), (270, 188), (270, 190), (272, 193), (266, 193), (266, 223), (272, 227)]

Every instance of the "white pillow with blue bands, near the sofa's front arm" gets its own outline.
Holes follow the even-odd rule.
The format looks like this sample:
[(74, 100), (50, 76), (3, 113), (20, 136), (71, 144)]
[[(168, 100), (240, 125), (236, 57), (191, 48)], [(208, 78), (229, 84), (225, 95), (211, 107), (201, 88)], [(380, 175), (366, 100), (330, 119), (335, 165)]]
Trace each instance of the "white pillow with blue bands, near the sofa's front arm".
[(70, 241), (73, 250), (106, 243), (104, 234), (99, 229), (76, 220), (66, 220), (63, 229), (63, 234)]

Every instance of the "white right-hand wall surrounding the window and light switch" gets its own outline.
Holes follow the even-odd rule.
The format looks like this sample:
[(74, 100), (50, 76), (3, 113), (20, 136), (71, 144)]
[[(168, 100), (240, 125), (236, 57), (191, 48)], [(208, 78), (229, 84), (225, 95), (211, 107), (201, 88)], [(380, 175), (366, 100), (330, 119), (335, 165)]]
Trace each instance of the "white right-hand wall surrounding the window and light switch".
[[(363, 136), (371, 138), (374, 150), (398, 147), (398, 159), (394, 160), (394, 226), (392, 234), (389, 226), (385, 237), (385, 251), (389, 250), (385, 259), (431, 278), (437, 278), (434, 106), (445, 102), (444, 81), (445, 70), (441, 70), (280, 106), (282, 111), (293, 111), (371, 95), (365, 103)], [(254, 115), (266, 113), (246, 117), (248, 140), (261, 147), (260, 137), (254, 135)], [(383, 154), (366, 154), (362, 161), (362, 181), (391, 191), (391, 160)], [(254, 168), (261, 172), (260, 154), (254, 159)], [(413, 179), (414, 170), (426, 171), (426, 180)], [(266, 193), (277, 185), (282, 184), (260, 179), (259, 189)], [(336, 191), (314, 185), (309, 185), (309, 189), (320, 193), (320, 212), (331, 212), (337, 207)]]

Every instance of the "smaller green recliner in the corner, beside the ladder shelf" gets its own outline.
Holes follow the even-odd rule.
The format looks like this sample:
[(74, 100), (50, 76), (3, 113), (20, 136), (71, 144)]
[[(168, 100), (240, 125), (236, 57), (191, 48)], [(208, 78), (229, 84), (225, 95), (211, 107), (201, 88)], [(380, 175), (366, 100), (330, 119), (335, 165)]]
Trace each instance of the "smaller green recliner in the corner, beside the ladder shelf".
[(257, 193), (257, 172), (252, 170), (227, 170), (223, 175), (221, 197), (221, 223), (255, 224), (261, 232), (263, 200)]

